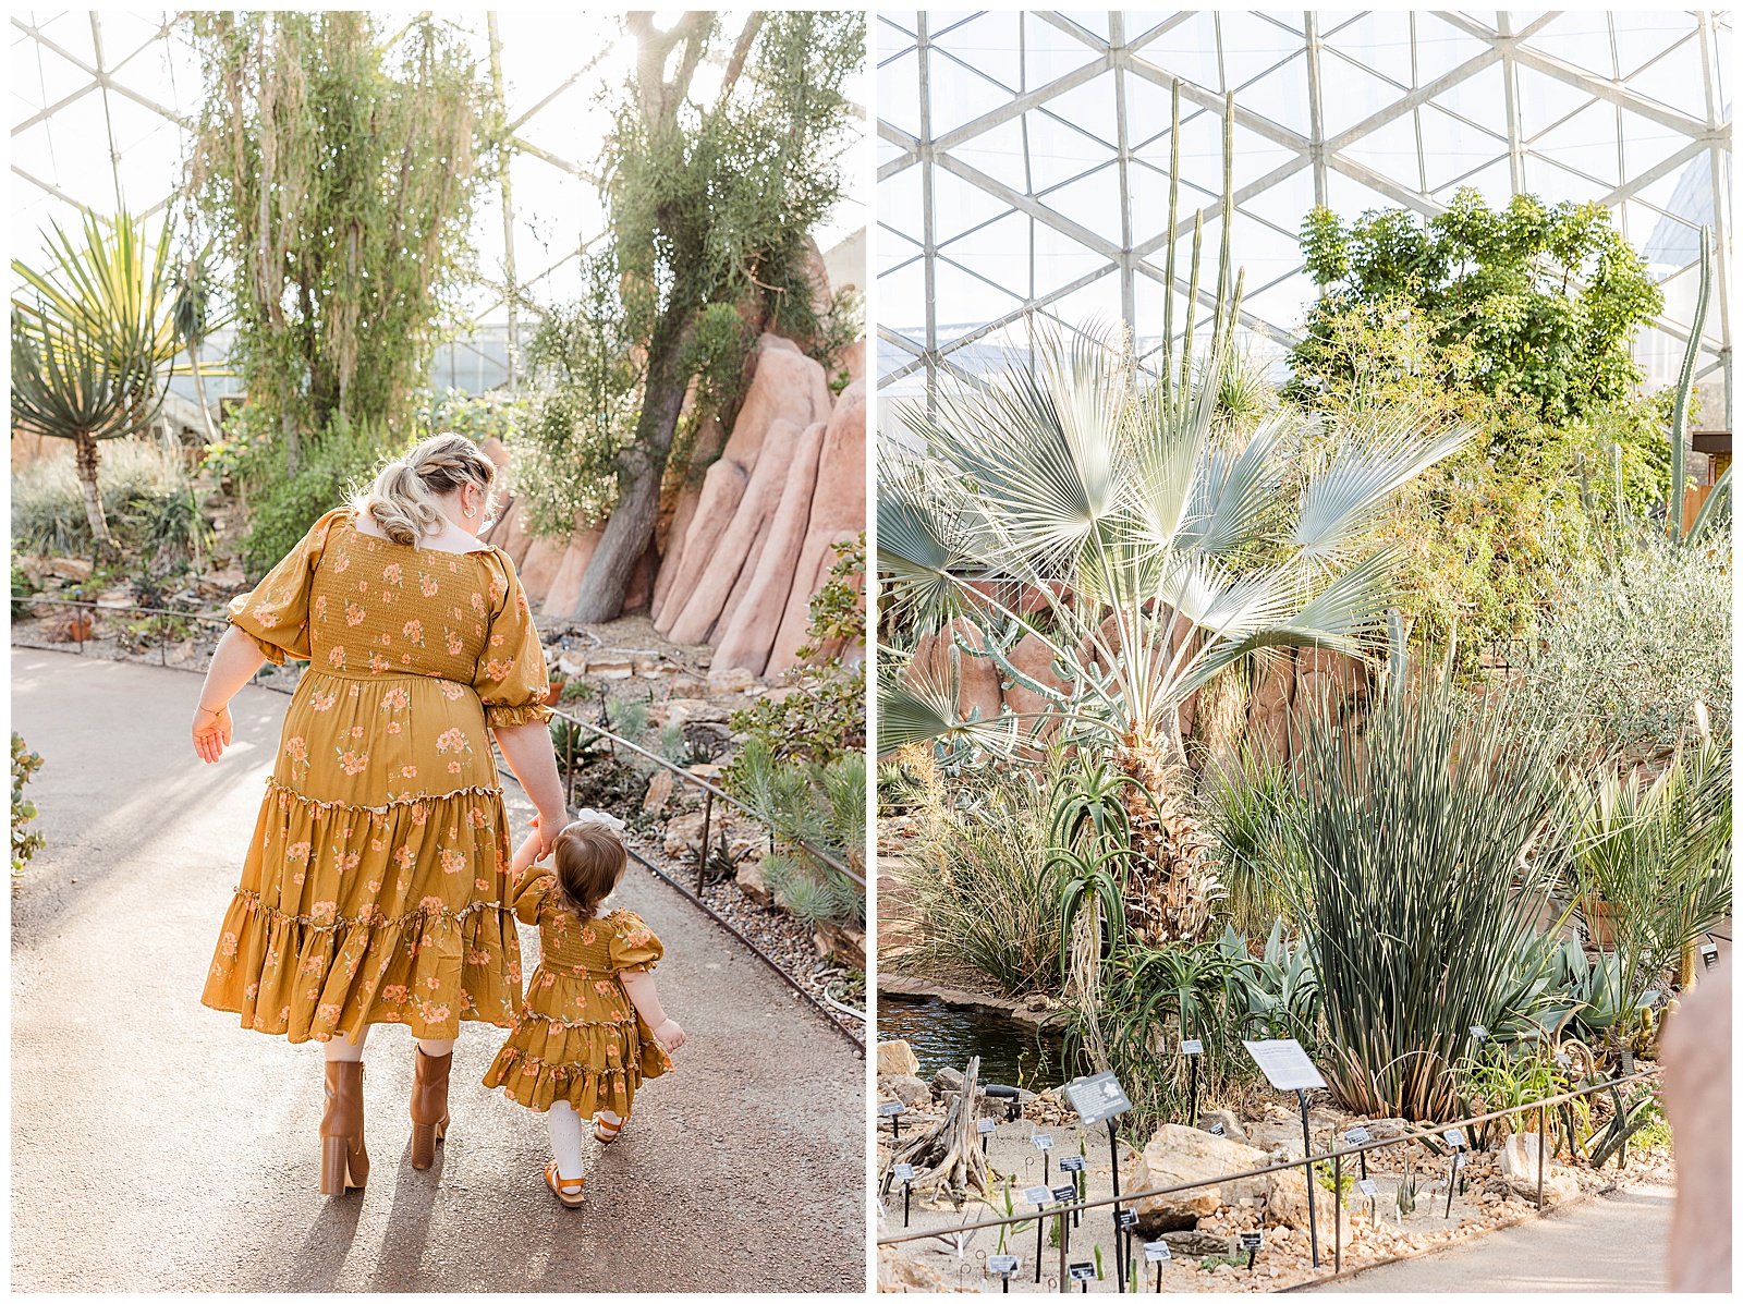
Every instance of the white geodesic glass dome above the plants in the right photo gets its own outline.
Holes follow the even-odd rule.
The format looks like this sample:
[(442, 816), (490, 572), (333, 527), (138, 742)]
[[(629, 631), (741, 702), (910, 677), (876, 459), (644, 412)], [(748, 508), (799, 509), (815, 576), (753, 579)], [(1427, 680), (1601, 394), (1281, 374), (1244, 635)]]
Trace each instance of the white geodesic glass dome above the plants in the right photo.
[[(1703, 424), (1729, 427), (1729, 14), (1680, 10), (880, 14), (880, 396), (1018, 364), (1037, 323), (1122, 321), (1147, 357), (1168, 295), (1178, 335), (1194, 209), (1204, 248), (1220, 239), (1232, 91), (1250, 350), (1281, 356), (1318, 293), (1297, 249), (1314, 204), (1434, 214), (1459, 187), (1492, 206), (1597, 200), (1665, 291), (1635, 343), (1652, 387), (1675, 378), (1713, 227), (1696, 375)], [(1211, 303), (1201, 289), (1199, 321)]]

